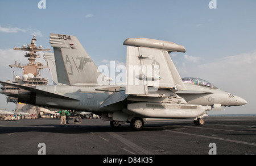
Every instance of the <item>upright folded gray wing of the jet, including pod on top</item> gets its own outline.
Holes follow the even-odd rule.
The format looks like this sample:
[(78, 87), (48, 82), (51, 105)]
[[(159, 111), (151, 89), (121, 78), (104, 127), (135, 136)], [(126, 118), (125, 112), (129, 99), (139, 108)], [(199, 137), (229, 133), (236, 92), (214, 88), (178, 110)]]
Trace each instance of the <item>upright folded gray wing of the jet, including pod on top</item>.
[(185, 52), (182, 45), (161, 40), (129, 38), (126, 94), (148, 94), (148, 87), (187, 90), (170, 52)]

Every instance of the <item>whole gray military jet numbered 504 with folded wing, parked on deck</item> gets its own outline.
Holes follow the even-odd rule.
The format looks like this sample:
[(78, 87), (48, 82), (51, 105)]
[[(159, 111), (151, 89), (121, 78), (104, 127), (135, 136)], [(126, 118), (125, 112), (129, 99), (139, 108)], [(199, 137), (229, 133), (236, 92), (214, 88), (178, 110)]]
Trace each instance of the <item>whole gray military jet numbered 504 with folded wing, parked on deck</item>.
[[(198, 78), (184, 78), (169, 53), (185, 52), (182, 45), (162, 40), (129, 38), (125, 86), (109, 85), (75, 36), (51, 34), (57, 80), (63, 85), (20, 88), (19, 102), (53, 109), (88, 111), (112, 127), (130, 123), (141, 130), (146, 118), (195, 118), (204, 124), (208, 110), (247, 102)], [(197, 81), (197, 82), (196, 82)], [(200, 83), (201, 81), (201, 83)]]

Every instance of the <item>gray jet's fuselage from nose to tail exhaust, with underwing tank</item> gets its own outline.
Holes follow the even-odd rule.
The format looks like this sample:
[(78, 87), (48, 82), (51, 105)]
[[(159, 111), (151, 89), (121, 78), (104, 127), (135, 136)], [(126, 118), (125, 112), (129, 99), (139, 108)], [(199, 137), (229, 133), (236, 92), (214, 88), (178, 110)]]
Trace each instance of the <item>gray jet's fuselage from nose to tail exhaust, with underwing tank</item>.
[[(154, 95), (127, 95), (125, 93), (125, 87), (120, 86), (37, 86), (36, 89), (40, 90), (40, 92), (49, 92), (49, 94), (35, 94), (20, 89), (18, 98), (19, 102), (23, 103), (49, 107), (49, 109), (88, 111), (101, 116), (104, 115), (107, 119), (109, 118), (109, 114), (125, 112), (144, 118), (192, 118), (203, 114), (205, 108), (207, 110), (220, 110), (221, 106), (240, 106), (247, 103), (244, 99), (224, 92), (215, 86), (200, 86), (189, 84), (188, 82), (184, 85), (187, 90), (177, 91), (176, 96), (172, 90), (159, 89), (155, 92), (155, 94), (162, 94), (162, 97), (155, 97)], [(51, 93), (59, 95), (59, 97), (51, 96)], [(61, 96), (69, 98), (61, 98)], [(167, 109), (168, 113), (160, 113), (160, 115), (156, 115), (155, 113), (151, 113), (152, 115), (138, 112), (131, 113), (127, 110), (127, 107), (135, 103), (143, 109), (153, 108), (155, 110), (161, 110), (172, 105), (179, 106), (179, 111), (182, 110), (180, 108), (183, 105), (186, 105), (190, 109), (193, 107), (196, 109), (193, 109), (192, 114), (187, 115), (180, 115), (180, 112), (171, 113), (172, 109)], [(199, 105), (205, 107), (199, 109)], [(188, 111), (186, 108), (183, 110), (184, 113)]]

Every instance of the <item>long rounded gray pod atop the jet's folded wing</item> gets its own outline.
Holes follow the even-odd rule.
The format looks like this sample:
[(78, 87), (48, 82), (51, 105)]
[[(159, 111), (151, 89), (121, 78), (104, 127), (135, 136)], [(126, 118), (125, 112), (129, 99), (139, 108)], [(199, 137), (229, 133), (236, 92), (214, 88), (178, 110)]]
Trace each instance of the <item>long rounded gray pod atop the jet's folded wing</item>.
[(125, 42), (123, 42), (123, 45), (163, 49), (168, 52), (186, 52), (186, 49), (183, 45), (147, 38), (128, 38), (125, 40)]

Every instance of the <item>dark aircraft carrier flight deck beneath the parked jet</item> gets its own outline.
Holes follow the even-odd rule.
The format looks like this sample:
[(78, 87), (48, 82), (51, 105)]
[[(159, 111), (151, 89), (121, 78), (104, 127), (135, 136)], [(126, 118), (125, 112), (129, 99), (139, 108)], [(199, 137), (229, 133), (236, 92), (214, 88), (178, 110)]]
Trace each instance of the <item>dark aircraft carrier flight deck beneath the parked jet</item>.
[[(71, 120), (69, 122), (72, 122)], [(142, 131), (130, 124), (84, 119), (60, 125), (60, 119), (0, 121), (1, 155), (249, 155), (256, 154), (256, 117), (206, 117), (148, 121)], [(41, 146), (43, 144), (43, 146)]]

